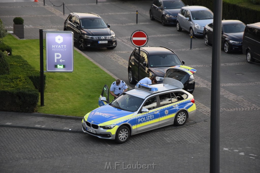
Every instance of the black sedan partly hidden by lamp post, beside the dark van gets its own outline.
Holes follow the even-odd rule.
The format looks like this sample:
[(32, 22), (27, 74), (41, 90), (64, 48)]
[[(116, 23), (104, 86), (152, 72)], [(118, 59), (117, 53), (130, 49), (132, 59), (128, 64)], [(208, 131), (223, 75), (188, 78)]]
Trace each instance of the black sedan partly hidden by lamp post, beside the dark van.
[[(221, 46), (226, 53), (242, 51), (242, 40), (245, 24), (239, 20), (222, 20)], [(213, 43), (213, 23), (207, 24), (203, 30), (206, 45)]]

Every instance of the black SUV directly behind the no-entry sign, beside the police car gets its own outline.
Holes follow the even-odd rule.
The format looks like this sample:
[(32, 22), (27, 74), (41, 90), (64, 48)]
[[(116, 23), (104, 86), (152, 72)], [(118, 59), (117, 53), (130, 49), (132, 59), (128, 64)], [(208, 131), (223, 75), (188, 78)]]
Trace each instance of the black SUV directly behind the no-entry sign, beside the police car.
[(171, 49), (166, 47), (140, 48), (140, 78), (138, 79), (138, 48), (135, 48), (128, 60), (128, 80), (130, 84), (145, 77), (155, 77), (158, 83), (164, 79), (166, 70), (171, 66), (184, 65)]

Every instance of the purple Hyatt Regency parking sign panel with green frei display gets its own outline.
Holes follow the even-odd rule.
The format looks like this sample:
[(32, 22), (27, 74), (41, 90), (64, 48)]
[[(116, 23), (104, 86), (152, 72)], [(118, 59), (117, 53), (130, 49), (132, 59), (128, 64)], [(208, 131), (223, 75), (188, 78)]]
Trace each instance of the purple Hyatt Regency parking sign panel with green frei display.
[(73, 32), (46, 32), (47, 72), (73, 72)]

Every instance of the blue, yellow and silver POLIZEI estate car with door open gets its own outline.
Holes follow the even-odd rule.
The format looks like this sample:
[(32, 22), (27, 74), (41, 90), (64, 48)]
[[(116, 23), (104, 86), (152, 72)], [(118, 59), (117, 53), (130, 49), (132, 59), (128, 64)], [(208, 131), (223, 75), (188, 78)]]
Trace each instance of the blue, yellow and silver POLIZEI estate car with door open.
[(109, 103), (109, 89), (104, 86), (99, 108), (82, 119), (82, 130), (102, 139), (126, 142), (131, 135), (175, 124), (182, 126), (196, 112), (193, 95), (181, 89), (172, 78), (163, 83), (136, 84)]

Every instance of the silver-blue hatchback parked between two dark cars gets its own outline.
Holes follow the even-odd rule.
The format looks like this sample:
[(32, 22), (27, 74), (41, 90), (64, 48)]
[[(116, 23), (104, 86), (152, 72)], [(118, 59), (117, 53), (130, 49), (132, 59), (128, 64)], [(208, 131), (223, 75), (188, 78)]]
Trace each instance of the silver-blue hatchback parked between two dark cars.
[(206, 24), (213, 23), (213, 12), (204, 6), (184, 6), (177, 16), (177, 31), (189, 31), (193, 36), (203, 36)]

